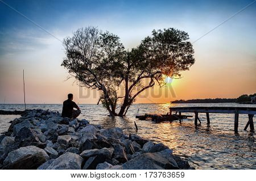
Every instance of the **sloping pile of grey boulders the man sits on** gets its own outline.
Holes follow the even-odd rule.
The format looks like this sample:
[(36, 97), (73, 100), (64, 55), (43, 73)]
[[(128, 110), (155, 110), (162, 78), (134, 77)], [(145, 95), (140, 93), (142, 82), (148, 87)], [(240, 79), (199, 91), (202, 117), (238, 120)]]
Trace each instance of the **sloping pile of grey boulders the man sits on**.
[(0, 169), (192, 169), (162, 143), (59, 112), (27, 111), (0, 136)]

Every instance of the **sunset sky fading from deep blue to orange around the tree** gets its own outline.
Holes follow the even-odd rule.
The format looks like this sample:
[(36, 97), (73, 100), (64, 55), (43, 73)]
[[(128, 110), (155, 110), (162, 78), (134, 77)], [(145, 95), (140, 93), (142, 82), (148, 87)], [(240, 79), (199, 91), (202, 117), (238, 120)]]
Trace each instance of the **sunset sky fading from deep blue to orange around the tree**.
[[(40, 27), (31, 23), (18, 12)], [(59, 40), (80, 27), (97, 26), (136, 47), (154, 29), (186, 31), (193, 42), (253, 0), (241, 1), (0, 1), (0, 103), (62, 103), (72, 92), (79, 103), (97, 103), (98, 93), (79, 92), (60, 66)], [(176, 99), (237, 98), (256, 92), (256, 2), (195, 43), (195, 64), (161, 90), (136, 103)], [(59, 40), (58, 40), (59, 39)]]

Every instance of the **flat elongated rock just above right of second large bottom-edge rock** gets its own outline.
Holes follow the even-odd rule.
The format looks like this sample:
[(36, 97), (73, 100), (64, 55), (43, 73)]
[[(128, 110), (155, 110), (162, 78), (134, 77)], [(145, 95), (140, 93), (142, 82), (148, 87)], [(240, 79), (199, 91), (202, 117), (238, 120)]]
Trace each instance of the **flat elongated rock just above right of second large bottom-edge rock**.
[(102, 149), (92, 149), (92, 150), (84, 150), (80, 154), (82, 158), (89, 158), (95, 155), (102, 155), (105, 159), (110, 159), (112, 157), (114, 149), (113, 148), (102, 148)]

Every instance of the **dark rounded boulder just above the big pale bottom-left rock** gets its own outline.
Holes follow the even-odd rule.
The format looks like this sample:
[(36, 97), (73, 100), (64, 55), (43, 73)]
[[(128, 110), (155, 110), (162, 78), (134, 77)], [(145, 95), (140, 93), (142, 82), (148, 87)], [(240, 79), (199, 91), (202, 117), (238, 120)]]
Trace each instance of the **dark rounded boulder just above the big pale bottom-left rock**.
[(41, 144), (36, 132), (28, 127), (23, 127), (18, 133), (16, 133), (15, 141), (19, 142), (20, 146)]

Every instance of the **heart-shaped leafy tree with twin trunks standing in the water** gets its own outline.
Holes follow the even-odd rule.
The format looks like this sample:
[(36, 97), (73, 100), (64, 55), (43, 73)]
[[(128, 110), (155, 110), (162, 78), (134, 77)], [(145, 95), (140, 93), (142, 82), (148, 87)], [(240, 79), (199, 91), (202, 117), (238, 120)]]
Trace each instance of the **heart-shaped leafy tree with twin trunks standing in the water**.
[[(181, 71), (189, 70), (195, 58), (188, 39), (188, 33), (174, 28), (153, 30), (138, 47), (126, 50), (113, 33), (80, 28), (64, 39), (61, 65), (81, 86), (102, 92), (98, 103), (110, 115), (123, 116), (141, 92), (165, 85), (163, 75), (180, 78)], [(119, 89), (124, 90), (122, 96)], [(118, 113), (117, 103), (121, 104)]]

